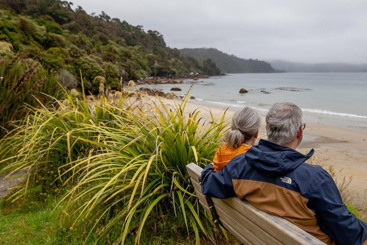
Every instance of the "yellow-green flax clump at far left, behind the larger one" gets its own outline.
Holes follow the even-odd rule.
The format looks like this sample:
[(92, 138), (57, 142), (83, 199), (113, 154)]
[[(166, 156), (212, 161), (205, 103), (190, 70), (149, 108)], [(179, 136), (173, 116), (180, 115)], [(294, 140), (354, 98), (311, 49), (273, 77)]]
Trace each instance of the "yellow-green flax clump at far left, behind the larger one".
[[(3, 139), (0, 139), (1, 172), (8, 178), (26, 171), (26, 183), (14, 187), (9, 201), (26, 197), (31, 186), (41, 185), (43, 194), (57, 193), (62, 185), (58, 176), (65, 169), (59, 168), (67, 162), (92, 154), (94, 146), (78, 140), (98, 137), (79, 130), (80, 123), (108, 125), (113, 113), (120, 113), (115, 107), (100, 105), (100, 102), (86, 102), (66, 94), (65, 100), (52, 98), (52, 107), (29, 107), (28, 115), (18, 121), (18, 126)], [(123, 99), (120, 98), (120, 104)]]

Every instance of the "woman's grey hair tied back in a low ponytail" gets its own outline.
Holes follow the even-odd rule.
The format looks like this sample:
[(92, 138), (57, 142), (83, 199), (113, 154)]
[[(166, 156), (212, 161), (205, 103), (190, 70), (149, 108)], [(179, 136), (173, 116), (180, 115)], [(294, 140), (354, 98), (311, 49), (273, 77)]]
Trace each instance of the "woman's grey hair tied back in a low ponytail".
[(235, 149), (250, 140), (258, 131), (261, 123), (259, 113), (249, 107), (244, 107), (233, 114), (232, 125), (224, 136), (227, 145)]

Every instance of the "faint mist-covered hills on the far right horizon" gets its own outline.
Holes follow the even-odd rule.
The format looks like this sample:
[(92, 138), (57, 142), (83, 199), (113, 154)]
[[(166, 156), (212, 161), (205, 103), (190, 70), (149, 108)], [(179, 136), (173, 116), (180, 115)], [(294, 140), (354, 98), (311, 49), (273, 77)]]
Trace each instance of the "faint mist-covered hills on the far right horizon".
[(280, 59), (268, 60), (274, 69), (286, 72), (367, 72), (367, 63), (301, 63), (283, 61)]

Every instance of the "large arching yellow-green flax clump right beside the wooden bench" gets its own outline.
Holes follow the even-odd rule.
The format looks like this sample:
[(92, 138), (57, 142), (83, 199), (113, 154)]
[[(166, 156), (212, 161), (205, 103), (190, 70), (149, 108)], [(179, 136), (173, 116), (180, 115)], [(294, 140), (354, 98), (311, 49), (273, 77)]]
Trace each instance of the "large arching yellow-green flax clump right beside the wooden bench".
[(173, 110), (160, 100), (148, 108), (137, 107), (126, 111), (126, 118), (114, 115), (113, 127), (84, 125), (83, 130), (101, 137), (99, 142), (79, 138), (94, 144), (98, 154), (62, 166), (69, 168), (64, 174), (79, 176), (60, 201), (67, 202), (71, 229), (81, 230), (86, 240), (97, 232), (96, 243), (110, 237), (119, 244), (131, 239), (139, 244), (142, 233), (153, 234), (146, 223), (157, 217), (164, 222), (174, 215), (188, 235), (195, 233), (197, 244), (199, 230), (213, 237), (211, 224), (199, 217), (185, 166), (212, 160), (224, 131), (224, 116), (212, 118), (212, 123), (198, 118), (199, 111), (185, 117), (186, 102), (187, 98)]

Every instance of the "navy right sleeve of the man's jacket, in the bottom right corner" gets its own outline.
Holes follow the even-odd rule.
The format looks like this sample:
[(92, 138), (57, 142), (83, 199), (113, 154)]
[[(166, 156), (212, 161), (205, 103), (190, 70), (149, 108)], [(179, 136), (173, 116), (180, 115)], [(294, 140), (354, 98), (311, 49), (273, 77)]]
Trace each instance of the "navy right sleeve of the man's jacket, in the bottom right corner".
[(367, 245), (367, 224), (348, 210), (333, 178), (322, 169), (316, 179), (309, 205), (320, 229), (338, 245)]

